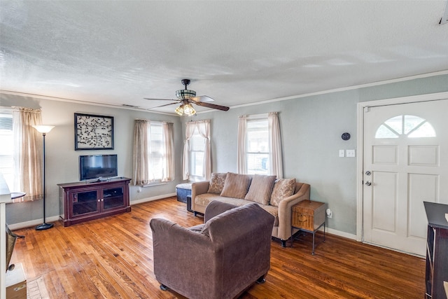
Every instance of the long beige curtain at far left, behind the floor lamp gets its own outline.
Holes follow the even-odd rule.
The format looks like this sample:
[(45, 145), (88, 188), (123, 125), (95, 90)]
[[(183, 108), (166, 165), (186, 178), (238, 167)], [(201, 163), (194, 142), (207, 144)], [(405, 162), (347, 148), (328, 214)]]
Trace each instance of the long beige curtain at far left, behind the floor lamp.
[[(33, 125), (41, 125), (41, 110), (14, 107), (14, 187), (27, 195), (20, 201), (41, 200), (43, 196), (43, 138)], [(13, 191), (13, 190), (12, 190)]]

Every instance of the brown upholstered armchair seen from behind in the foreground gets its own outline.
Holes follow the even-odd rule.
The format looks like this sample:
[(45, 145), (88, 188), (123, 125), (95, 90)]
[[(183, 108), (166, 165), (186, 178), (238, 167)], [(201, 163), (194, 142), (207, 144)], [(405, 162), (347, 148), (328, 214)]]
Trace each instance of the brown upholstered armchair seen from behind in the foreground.
[(153, 218), (154, 274), (162, 290), (190, 299), (235, 298), (270, 267), (274, 216), (258, 204), (211, 202), (204, 224), (183, 228)]

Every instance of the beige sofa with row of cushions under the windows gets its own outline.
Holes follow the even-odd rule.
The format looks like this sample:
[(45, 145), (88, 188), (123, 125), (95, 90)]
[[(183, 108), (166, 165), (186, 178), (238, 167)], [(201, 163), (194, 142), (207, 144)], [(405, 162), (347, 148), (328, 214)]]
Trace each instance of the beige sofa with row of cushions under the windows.
[(191, 208), (195, 216), (204, 214), (207, 205), (218, 200), (237, 207), (256, 202), (275, 217), (272, 237), (281, 240), (281, 246), (297, 229), (291, 227), (291, 208), (297, 202), (309, 200), (309, 184), (295, 179), (275, 176), (214, 173), (210, 181), (195, 182), (191, 188)]

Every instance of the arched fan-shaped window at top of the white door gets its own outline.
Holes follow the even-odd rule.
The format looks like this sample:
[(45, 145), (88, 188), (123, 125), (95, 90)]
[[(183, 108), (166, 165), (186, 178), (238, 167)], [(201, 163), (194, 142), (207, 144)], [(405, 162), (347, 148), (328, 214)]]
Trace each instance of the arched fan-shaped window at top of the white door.
[(433, 126), (419, 116), (394, 116), (379, 126), (375, 138), (398, 138), (400, 135), (409, 138), (436, 136)]

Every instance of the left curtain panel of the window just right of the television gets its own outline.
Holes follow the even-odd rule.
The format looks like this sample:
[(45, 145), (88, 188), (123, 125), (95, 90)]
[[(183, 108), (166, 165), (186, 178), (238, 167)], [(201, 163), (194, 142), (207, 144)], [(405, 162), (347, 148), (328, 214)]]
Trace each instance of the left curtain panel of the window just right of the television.
[(134, 147), (132, 151), (132, 166), (134, 172), (132, 181), (134, 186), (146, 185), (149, 180), (149, 132), (150, 122), (148, 120), (134, 120)]

